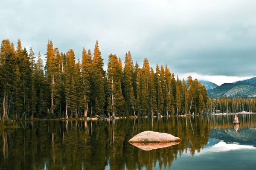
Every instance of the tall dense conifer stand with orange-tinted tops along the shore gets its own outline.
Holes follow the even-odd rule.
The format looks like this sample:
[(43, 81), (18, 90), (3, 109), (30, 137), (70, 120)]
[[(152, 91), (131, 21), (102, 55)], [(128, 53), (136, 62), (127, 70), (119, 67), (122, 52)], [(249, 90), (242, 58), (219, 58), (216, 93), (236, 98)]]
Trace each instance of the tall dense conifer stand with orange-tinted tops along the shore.
[(209, 113), (213, 108), (207, 91), (197, 79), (180, 80), (167, 66), (134, 64), (108, 56), (108, 69), (98, 42), (93, 53), (83, 48), (81, 61), (73, 49), (61, 53), (47, 44), (45, 65), (33, 48), (15, 48), (3, 40), (0, 51), (0, 115), (2, 119), (77, 116), (153, 116)]

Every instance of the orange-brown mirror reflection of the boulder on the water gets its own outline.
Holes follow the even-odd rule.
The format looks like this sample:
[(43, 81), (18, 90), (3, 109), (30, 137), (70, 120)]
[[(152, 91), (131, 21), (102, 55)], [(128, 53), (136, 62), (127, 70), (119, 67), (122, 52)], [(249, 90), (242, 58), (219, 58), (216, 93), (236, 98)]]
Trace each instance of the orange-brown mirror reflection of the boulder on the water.
[(131, 143), (135, 147), (138, 147), (142, 150), (153, 150), (160, 149), (163, 147), (169, 147), (175, 144), (179, 144), (180, 142), (164, 142), (164, 143)]

